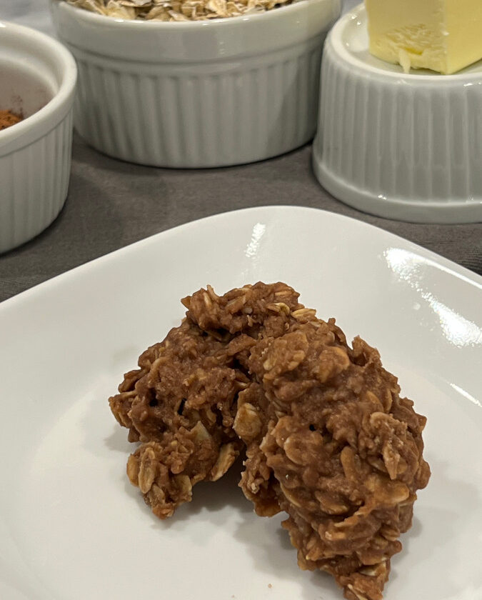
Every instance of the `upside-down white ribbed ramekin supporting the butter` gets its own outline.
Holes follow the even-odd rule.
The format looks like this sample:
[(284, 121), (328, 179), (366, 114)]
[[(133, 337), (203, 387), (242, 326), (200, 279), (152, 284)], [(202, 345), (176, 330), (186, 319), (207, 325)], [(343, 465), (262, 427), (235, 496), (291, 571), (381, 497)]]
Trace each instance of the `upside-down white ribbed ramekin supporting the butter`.
[(368, 52), (363, 5), (326, 39), (313, 166), (346, 204), (402, 221), (482, 221), (482, 62), (403, 73)]

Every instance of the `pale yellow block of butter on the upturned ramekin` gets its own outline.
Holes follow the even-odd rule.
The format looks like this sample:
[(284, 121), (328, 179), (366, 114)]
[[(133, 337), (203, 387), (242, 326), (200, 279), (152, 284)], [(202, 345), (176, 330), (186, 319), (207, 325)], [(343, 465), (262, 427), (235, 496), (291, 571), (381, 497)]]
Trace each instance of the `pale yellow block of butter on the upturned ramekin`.
[(482, 59), (482, 0), (365, 0), (371, 54), (403, 70), (460, 71)]

